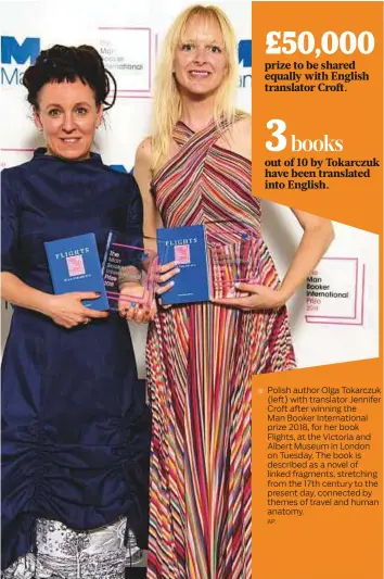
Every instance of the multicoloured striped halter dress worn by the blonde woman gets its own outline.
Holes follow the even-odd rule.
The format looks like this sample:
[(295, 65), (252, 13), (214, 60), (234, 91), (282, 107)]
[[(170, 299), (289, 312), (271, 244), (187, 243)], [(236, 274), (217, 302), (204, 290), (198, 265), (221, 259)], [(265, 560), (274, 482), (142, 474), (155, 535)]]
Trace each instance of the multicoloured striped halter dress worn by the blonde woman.
[[(219, 147), (220, 136), (214, 124), (196, 134), (176, 125), (179, 150), (153, 182), (156, 205), (165, 227), (204, 224), (213, 254), (232, 248), (247, 279), (274, 288), (251, 162)], [(285, 307), (158, 312), (148, 341), (149, 579), (251, 578), (252, 375), (293, 367)]]

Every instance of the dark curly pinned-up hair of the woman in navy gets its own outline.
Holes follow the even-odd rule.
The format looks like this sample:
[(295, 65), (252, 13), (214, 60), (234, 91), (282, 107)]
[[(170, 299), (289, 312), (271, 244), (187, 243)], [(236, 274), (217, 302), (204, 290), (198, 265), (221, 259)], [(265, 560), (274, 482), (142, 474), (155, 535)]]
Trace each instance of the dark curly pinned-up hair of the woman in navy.
[[(79, 78), (93, 90), (97, 105), (102, 105), (106, 111), (115, 104), (116, 80), (104, 67), (103, 59), (90, 46), (63, 47), (55, 45), (48, 50), (42, 50), (35, 64), (29, 66), (23, 76), (23, 85), (28, 90), (28, 102), (39, 109), (39, 90), (47, 83), (74, 83)], [(111, 88), (112, 100), (106, 101)]]

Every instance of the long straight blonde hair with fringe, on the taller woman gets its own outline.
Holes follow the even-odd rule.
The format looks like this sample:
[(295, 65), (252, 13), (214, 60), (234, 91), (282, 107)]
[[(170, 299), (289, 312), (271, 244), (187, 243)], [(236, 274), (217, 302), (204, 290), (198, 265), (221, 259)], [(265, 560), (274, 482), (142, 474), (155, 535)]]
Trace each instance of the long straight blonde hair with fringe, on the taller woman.
[(220, 26), (225, 50), (228, 58), (227, 75), (217, 90), (214, 103), (214, 122), (219, 128), (228, 126), (235, 115), (235, 90), (238, 86), (238, 53), (233, 27), (218, 7), (195, 4), (188, 8), (176, 18), (169, 28), (157, 65), (153, 99), (152, 126), (152, 173), (155, 174), (165, 163), (174, 127), (182, 113), (181, 98), (172, 74), (175, 51), (182, 35), (195, 17), (215, 20)]

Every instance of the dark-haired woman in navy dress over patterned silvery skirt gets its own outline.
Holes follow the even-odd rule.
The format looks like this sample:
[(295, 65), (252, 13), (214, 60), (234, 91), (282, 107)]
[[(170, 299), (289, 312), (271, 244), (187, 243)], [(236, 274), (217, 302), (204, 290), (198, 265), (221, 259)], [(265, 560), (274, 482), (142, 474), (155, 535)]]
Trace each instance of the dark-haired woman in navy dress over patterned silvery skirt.
[[(110, 229), (140, 243), (131, 175), (91, 153), (110, 79), (91, 47), (42, 51), (24, 76), (47, 149), (2, 172), (4, 578), (124, 577), (146, 539), (149, 417), (127, 323), (53, 295), (44, 241)], [(133, 549), (133, 550), (135, 550)], [(128, 575), (129, 577), (129, 575)]]

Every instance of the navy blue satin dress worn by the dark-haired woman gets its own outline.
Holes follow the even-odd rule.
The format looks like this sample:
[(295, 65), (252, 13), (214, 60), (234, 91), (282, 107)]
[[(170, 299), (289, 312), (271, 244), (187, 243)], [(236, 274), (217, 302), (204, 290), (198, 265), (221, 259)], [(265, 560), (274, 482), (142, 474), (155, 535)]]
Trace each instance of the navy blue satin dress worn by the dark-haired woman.
[[(35, 152), (2, 176), (2, 270), (53, 293), (43, 242), (111, 228), (142, 236), (131, 175), (92, 154)], [(127, 516), (144, 546), (149, 415), (127, 324), (65, 329), (15, 307), (2, 367), (2, 568), (34, 547), (37, 518), (76, 530)]]

